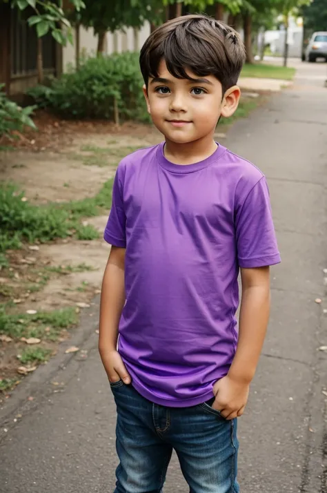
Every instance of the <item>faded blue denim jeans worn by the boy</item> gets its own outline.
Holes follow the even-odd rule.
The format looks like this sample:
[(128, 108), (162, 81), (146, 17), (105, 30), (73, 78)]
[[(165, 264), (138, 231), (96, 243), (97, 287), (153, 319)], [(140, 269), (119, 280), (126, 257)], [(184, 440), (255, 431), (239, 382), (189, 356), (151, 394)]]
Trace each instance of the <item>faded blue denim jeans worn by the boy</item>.
[[(115, 493), (161, 493), (172, 450), (190, 493), (238, 493), (237, 420), (211, 403), (163, 407), (122, 381), (110, 387), (117, 405)], [(212, 399), (213, 400), (213, 399)]]

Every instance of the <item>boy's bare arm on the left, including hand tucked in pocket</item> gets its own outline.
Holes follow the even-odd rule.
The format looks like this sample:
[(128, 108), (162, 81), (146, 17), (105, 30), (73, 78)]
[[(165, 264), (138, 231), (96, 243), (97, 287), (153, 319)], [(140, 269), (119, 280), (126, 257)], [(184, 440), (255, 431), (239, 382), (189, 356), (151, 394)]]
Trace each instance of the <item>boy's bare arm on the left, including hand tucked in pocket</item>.
[(125, 249), (112, 247), (101, 289), (99, 353), (109, 380), (121, 379), (129, 384), (130, 376), (117, 351), (118, 326), (125, 303), (124, 264)]

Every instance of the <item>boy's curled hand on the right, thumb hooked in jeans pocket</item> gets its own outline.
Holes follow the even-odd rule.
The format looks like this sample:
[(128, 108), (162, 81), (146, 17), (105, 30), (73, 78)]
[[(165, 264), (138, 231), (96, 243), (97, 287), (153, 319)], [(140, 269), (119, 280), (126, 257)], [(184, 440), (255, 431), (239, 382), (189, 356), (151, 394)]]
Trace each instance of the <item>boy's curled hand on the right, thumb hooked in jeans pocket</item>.
[(216, 396), (213, 409), (217, 409), (227, 420), (237, 418), (244, 413), (248, 402), (250, 384), (235, 380), (226, 375), (213, 386)]

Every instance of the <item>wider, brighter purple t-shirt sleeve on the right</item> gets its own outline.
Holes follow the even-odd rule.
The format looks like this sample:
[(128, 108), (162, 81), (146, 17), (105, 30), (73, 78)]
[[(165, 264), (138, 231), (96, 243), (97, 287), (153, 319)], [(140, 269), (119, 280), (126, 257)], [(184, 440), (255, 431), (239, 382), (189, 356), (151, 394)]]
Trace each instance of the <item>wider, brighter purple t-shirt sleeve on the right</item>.
[(265, 177), (255, 184), (235, 218), (239, 267), (266, 267), (281, 261)]

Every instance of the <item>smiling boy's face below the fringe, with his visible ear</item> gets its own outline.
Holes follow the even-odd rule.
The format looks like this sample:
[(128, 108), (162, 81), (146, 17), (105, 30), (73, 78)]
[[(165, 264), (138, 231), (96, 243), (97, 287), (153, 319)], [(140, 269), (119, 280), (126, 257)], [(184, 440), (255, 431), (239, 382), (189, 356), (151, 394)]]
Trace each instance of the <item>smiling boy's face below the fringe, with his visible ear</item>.
[(162, 60), (158, 77), (149, 79), (148, 90), (143, 87), (153, 123), (166, 139), (177, 144), (213, 136), (219, 117), (230, 117), (240, 97), (237, 86), (223, 97), (215, 76), (198, 77), (187, 72), (195, 80), (173, 77)]

